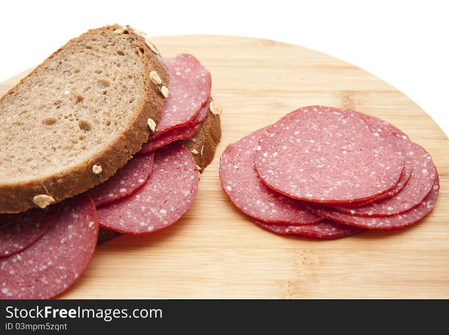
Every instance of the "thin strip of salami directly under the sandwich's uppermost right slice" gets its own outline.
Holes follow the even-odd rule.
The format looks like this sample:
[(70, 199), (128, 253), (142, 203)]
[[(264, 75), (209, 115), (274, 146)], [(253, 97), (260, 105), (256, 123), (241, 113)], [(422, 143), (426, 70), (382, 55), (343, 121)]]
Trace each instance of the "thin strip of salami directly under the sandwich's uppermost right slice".
[[(165, 133), (160, 134), (157, 138), (152, 139), (151, 141), (146, 142), (139, 153), (148, 152), (152, 150), (156, 150), (168, 143), (178, 141), (178, 140), (187, 140), (191, 138), (198, 131), (199, 127), (201, 127), (201, 122), (203, 122), (204, 118), (207, 115), (207, 111), (209, 110), (209, 105), (205, 104), (199, 113), (193, 118), (192, 122), (189, 122), (188, 125), (173, 128)], [(199, 121), (197, 121), (199, 120)]]

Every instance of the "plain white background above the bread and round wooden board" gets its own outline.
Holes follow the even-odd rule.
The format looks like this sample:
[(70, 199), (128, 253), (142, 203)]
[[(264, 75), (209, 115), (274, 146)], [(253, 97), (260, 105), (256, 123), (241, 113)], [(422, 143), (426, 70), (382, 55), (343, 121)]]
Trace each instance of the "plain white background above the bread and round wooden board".
[(149, 36), (223, 34), (274, 39), (353, 63), (404, 92), (449, 134), (446, 1), (8, 1), (0, 82), (68, 39), (118, 22)]

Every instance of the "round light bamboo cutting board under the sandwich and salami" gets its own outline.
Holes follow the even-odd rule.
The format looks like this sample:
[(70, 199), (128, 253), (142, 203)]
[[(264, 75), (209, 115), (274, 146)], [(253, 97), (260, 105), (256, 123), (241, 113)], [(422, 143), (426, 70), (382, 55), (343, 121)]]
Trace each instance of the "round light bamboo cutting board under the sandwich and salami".
[[(180, 221), (99, 246), (62, 298), (449, 298), (449, 140), (412, 100), (362, 69), (300, 46), (229, 36), (154, 41), (163, 55), (191, 53), (211, 71), (223, 109), (216, 158)], [(0, 94), (23, 74), (0, 84)], [(332, 241), (276, 236), (241, 214), (221, 190), (221, 152), (307, 105), (381, 117), (423, 145), (440, 173), (432, 213), (408, 228)]]

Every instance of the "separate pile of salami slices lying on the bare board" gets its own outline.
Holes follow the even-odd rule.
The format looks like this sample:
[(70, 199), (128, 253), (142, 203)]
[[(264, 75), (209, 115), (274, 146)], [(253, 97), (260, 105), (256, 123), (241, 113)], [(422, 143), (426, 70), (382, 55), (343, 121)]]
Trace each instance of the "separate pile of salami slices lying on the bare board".
[(418, 222), (434, 208), (430, 154), (390, 123), (311, 106), (229, 145), (220, 179), (232, 203), (279, 235), (332, 239)]

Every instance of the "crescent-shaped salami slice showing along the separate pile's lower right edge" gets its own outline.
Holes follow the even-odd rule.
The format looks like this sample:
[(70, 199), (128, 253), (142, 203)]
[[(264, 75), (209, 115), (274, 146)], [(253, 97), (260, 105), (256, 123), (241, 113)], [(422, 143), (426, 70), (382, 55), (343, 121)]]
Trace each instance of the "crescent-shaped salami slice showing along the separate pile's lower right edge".
[(386, 217), (355, 216), (340, 212), (336, 209), (320, 204), (307, 203), (306, 206), (316, 215), (340, 222), (368, 229), (395, 229), (409, 226), (418, 222), (432, 211), (439, 191), (438, 175), (435, 177), (429, 194), (416, 207), (403, 214)]

